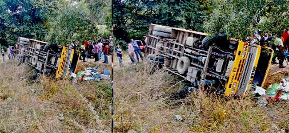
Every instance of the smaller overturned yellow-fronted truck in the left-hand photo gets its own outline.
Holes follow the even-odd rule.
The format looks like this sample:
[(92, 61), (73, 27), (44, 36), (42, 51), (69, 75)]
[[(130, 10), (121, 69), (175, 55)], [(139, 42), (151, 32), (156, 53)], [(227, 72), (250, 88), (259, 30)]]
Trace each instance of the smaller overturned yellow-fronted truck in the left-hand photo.
[(16, 58), (40, 72), (49, 72), (55, 78), (74, 73), (80, 52), (64, 46), (18, 37)]

